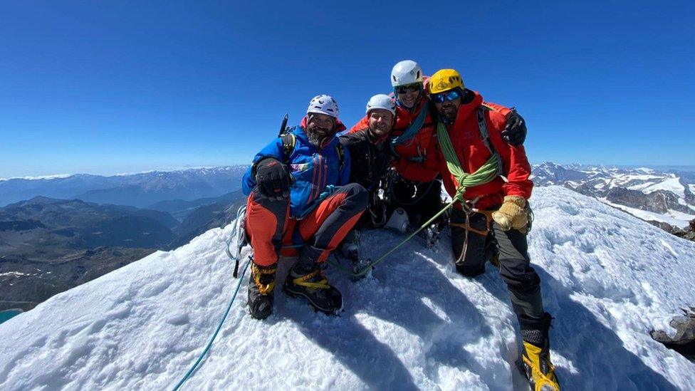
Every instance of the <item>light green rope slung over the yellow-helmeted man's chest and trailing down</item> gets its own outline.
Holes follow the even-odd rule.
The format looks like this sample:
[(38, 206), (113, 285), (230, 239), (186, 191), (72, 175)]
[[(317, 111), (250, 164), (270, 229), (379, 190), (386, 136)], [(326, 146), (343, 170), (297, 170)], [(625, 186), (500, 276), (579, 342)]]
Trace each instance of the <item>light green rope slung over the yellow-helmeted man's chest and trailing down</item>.
[[(370, 262), (369, 264), (365, 265), (359, 271), (352, 272), (350, 269), (343, 265), (331, 263), (333, 266), (336, 266), (341, 271), (348, 273), (353, 278), (360, 278), (364, 276), (374, 266), (380, 264), (382, 261), (386, 259), (387, 256), (390, 256), (394, 251), (399, 249), (400, 246), (406, 244), (406, 242), (412, 239), (415, 235), (417, 235), (419, 231), (425, 229), (427, 226), (429, 226), (435, 220), (437, 220), (439, 216), (444, 214), (444, 212), (446, 212), (449, 208), (453, 207), (455, 202), (463, 201), (466, 189), (468, 189), (469, 187), (480, 186), (481, 184), (492, 182), (493, 179), (495, 179), (498, 176), (498, 154), (493, 153), (492, 156), (488, 159), (488, 161), (484, 165), (482, 165), (478, 170), (476, 170), (476, 172), (474, 172), (473, 174), (468, 174), (464, 171), (463, 168), (461, 168), (461, 162), (459, 162), (459, 157), (456, 155), (454, 145), (451, 144), (451, 139), (449, 139), (449, 132), (446, 131), (446, 125), (444, 125), (444, 123), (442, 122), (439, 122), (439, 124), (437, 125), (437, 138), (439, 139), (439, 147), (441, 148), (441, 152), (444, 154), (444, 160), (446, 160), (446, 167), (449, 169), (449, 172), (451, 172), (451, 174), (454, 174), (454, 177), (456, 177), (457, 182), (459, 182), (459, 186), (456, 187), (456, 194), (454, 194), (454, 197), (453, 199), (451, 199), (451, 202), (449, 202), (449, 204), (446, 204), (446, 207), (437, 212), (437, 214), (435, 214), (431, 219), (427, 220), (427, 222), (422, 224), (422, 226), (420, 226), (416, 231), (412, 232), (412, 234), (409, 234), (399, 244), (394, 246), (394, 248), (390, 249), (385, 254), (377, 258), (376, 261)], [(464, 202), (461, 202), (461, 205), (463, 205), (464, 208), (466, 207), (466, 204)]]

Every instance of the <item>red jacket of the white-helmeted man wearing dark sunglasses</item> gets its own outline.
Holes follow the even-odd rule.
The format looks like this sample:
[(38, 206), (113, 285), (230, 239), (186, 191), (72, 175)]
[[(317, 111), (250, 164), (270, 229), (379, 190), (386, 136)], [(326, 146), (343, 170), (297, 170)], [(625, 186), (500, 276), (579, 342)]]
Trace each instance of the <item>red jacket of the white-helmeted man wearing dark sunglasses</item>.
[[(404, 130), (417, 118), (421, 110), (427, 110), (429, 99), (423, 97), (419, 108), (410, 112), (400, 106), (396, 106), (396, 123), (390, 136), (402, 135)], [(437, 138), (434, 137), (436, 124), (429, 113), (425, 117), (424, 124), (419, 132), (406, 144), (395, 147), (398, 158), (392, 160), (393, 167), (405, 179), (416, 182), (432, 180), (432, 172), (439, 170), (439, 157), (437, 154)], [(369, 127), (369, 118), (365, 116), (350, 128), (350, 133)], [(415, 162), (414, 160), (417, 160)]]

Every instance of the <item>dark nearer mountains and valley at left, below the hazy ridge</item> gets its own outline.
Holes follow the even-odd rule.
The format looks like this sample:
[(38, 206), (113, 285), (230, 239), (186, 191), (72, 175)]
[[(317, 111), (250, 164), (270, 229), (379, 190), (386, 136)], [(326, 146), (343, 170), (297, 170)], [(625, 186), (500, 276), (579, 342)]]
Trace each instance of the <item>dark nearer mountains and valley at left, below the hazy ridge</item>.
[(244, 202), (237, 190), (162, 205), (171, 214), (48, 197), (0, 208), (0, 311), (28, 310), (157, 249), (186, 244), (231, 221)]

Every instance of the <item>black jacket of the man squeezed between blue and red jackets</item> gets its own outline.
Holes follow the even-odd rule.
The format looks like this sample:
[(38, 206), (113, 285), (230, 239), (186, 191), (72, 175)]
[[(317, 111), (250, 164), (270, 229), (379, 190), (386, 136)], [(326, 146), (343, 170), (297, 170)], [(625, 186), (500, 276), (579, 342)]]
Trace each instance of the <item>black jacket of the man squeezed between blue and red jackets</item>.
[(379, 179), (391, 165), (387, 142), (377, 143), (369, 129), (340, 136), (340, 144), (350, 151), (350, 182), (357, 182), (370, 192), (377, 189)]

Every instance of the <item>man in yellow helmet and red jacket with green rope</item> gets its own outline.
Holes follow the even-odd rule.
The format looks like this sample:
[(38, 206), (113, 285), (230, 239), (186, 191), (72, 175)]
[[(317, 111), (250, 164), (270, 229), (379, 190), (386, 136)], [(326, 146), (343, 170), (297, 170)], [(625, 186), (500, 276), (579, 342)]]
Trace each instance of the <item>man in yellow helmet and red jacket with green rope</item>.
[[(533, 182), (528, 179), (531, 165), (526, 151), (503, 140), (505, 115), (485, 105), (479, 93), (464, 88), (461, 75), (453, 69), (432, 75), (429, 94), (439, 121), (437, 172), (446, 192), (461, 197), (450, 223), (456, 270), (478, 276), (486, 261), (498, 254), (500, 276), (521, 325), (526, 376), (535, 390), (559, 390), (548, 343), (552, 318), (543, 310), (540, 278), (528, 256), (527, 199)], [(491, 180), (460, 186), (467, 174), (484, 165), (497, 167)]]

